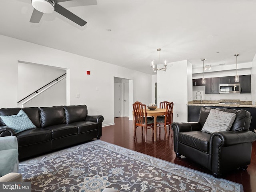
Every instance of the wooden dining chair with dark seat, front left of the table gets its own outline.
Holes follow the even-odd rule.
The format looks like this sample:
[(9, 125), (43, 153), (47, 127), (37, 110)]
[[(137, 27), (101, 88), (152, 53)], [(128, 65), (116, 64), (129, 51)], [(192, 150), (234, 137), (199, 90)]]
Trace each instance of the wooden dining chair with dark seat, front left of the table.
[(136, 136), (136, 130), (137, 127), (141, 126), (142, 135), (143, 135), (143, 128), (144, 128), (144, 134), (145, 134), (145, 142), (147, 138), (147, 130), (152, 128), (152, 134), (153, 134), (153, 128), (154, 128), (154, 119), (151, 117), (147, 117), (147, 107), (145, 104), (142, 104), (141, 102), (135, 102), (132, 104), (133, 107), (133, 114), (134, 114), (134, 121), (135, 121), (135, 127), (134, 127), (134, 139)]

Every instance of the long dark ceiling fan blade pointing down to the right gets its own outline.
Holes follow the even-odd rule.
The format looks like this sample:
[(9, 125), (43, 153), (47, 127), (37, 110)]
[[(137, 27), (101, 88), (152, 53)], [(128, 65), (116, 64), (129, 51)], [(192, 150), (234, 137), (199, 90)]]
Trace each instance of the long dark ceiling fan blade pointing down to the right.
[(76, 16), (74, 13), (60, 6), (58, 3), (55, 4), (54, 10), (80, 26), (84, 26), (87, 23), (85, 20), (82, 20), (80, 17)]

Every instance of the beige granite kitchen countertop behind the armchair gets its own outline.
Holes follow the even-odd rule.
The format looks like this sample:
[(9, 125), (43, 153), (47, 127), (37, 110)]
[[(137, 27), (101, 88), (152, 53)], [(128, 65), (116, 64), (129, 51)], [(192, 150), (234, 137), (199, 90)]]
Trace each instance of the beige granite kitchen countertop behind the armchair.
[(223, 106), (223, 107), (251, 107), (256, 108), (256, 105), (252, 105), (251, 101), (240, 101), (240, 104), (219, 104), (218, 100), (193, 100), (188, 102), (188, 106)]

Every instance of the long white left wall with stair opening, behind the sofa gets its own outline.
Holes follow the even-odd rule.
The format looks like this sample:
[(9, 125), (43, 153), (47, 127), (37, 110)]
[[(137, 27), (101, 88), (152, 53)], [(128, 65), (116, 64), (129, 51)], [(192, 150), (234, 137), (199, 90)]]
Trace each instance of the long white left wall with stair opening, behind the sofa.
[(103, 126), (114, 124), (114, 76), (132, 82), (130, 102), (152, 102), (152, 95), (145, 94), (152, 92), (152, 75), (7, 36), (0, 35), (0, 42), (0, 108), (17, 106), (18, 60), (67, 69), (67, 104), (86, 104), (89, 114), (104, 116)]

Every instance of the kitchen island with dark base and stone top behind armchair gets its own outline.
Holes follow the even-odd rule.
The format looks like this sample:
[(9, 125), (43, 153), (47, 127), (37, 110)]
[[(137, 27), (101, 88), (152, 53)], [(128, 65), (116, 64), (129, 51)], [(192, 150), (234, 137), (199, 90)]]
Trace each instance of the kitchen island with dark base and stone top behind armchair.
[(218, 103), (192, 103), (188, 102), (188, 121), (198, 121), (200, 110), (202, 107), (210, 108), (227, 108), (227, 109), (244, 109), (252, 114), (252, 121), (249, 130), (255, 132), (256, 130), (256, 105), (247, 104), (218, 104)]

